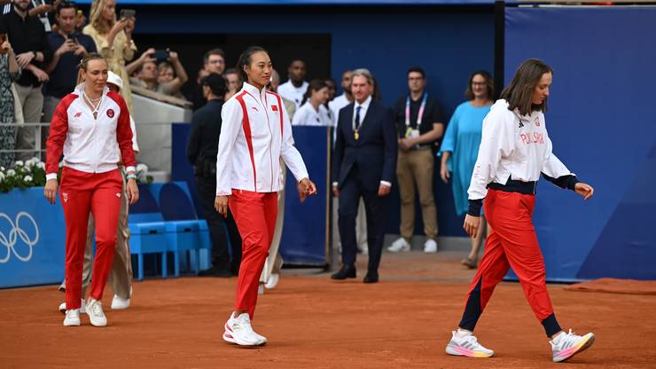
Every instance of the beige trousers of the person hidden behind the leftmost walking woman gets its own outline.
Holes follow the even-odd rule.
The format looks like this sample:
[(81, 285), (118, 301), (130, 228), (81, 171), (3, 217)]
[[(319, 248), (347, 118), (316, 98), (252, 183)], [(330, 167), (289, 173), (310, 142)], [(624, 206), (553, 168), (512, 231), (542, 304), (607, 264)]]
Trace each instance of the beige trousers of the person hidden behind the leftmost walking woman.
[[(130, 298), (132, 284), (132, 260), (129, 253), (129, 228), (128, 212), (129, 200), (126, 195), (125, 168), (121, 169), (123, 178), (123, 196), (121, 197), (121, 212), (119, 213), (119, 226), (116, 230), (116, 248), (114, 248), (112, 271), (109, 273), (109, 283), (112, 285), (113, 293), (123, 299)], [(87, 247), (84, 250), (84, 265), (82, 267), (82, 297), (86, 295), (87, 287), (91, 283), (91, 267), (93, 266), (93, 232), (96, 230), (96, 222), (93, 216), (89, 216), (87, 227)], [(60, 290), (66, 289), (66, 280), (59, 286)]]

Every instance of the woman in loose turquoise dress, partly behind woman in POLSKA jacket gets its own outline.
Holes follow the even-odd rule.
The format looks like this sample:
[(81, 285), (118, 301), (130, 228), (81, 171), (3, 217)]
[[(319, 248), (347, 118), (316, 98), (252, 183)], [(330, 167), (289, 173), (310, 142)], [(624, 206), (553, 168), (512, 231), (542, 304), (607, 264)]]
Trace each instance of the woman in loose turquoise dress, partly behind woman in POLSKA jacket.
[[(479, 154), (483, 118), (488, 115), (492, 106), (494, 86), (492, 76), (486, 71), (474, 72), (469, 77), (465, 91), (467, 101), (457, 106), (441, 143), (440, 177), (445, 184), (449, 183), (449, 179), (452, 181), (453, 200), (458, 216), (465, 216), (469, 208), (467, 189), (472, 181), (473, 166)], [(470, 269), (477, 266), (480, 244), (487, 229), (487, 222), (481, 214), (479, 232), (472, 238), (472, 250), (467, 258), (462, 260)]]

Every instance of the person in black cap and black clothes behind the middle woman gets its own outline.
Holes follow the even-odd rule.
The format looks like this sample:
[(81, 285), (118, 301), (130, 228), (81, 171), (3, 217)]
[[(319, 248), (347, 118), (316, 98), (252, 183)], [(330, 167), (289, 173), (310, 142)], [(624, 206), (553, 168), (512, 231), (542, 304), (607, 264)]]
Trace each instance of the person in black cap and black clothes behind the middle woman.
[[(221, 109), (227, 90), (221, 75), (210, 73), (202, 81), (207, 104), (194, 112), (191, 132), (187, 141), (187, 159), (193, 166), (200, 205), (205, 211), (210, 239), (212, 240), (212, 267), (201, 271), (204, 277), (231, 277), (237, 275), (241, 261), (241, 237), (230, 209), (225, 218), (215, 210), (216, 153), (221, 133)], [(232, 248), (232, 263), (228, 252), (228, 237)]]

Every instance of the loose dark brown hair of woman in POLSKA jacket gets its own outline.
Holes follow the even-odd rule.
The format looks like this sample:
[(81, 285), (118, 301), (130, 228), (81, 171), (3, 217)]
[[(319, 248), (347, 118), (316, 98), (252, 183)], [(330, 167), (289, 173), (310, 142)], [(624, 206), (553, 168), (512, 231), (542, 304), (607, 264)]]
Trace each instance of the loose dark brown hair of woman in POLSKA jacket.
[(519, 114), (527, 115), (535, 110), (547, 111), (547, 99), (545, 98), (540, 105), (533, 104), (533, 92), (535, 86), (545, 73), (551, 73), (553, 70), (540, 59), (528, 59), (521, 63), (517, 68), (512, 82), (502, 92), (501, 98), (504, 98), (509, 106), (509, 110), (519, 110)]

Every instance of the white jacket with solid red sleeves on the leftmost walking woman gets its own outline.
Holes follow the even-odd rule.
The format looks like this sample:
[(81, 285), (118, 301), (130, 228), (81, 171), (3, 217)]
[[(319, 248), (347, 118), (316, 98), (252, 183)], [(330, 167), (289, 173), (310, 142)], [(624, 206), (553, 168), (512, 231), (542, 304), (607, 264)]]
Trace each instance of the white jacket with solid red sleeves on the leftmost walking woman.
[(46, 142), (46, 179), (57, 178), (59, 158), (64, 166), (87, 173), (104, 173), (117, 169), (121, 161), (126, 171), (135, 170), (132, 130), (128, 106), (116, 92), (105, 87), (93, 117), (82, 99), (84, 83), (62, 98), (52, 115), (50, 137)]

